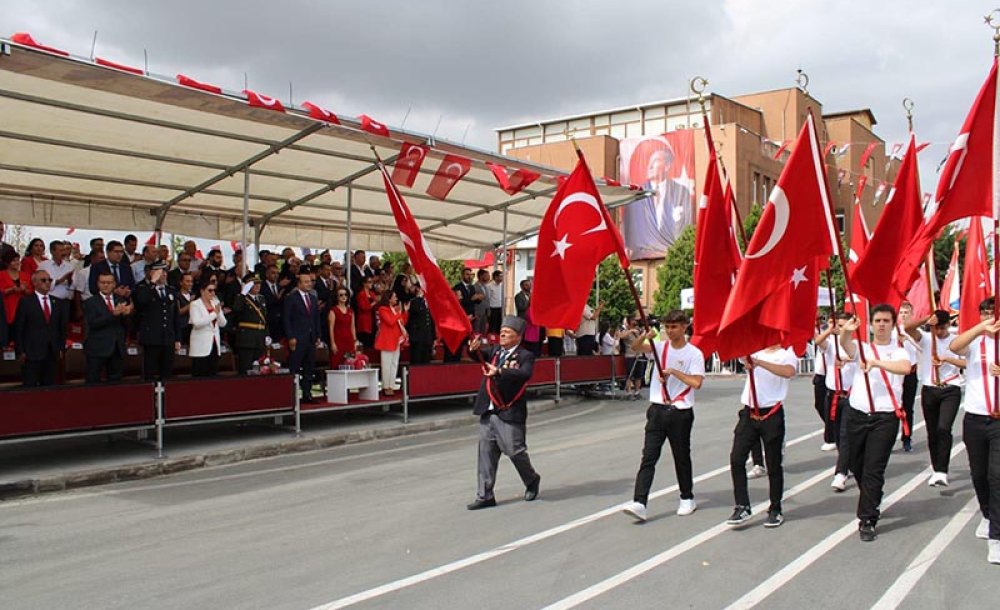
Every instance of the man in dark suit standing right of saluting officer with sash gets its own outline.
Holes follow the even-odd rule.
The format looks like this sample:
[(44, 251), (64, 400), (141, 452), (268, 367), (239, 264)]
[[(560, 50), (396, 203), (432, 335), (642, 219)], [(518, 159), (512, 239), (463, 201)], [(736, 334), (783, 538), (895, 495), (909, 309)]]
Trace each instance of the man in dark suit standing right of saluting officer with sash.
[(316, 343), (320, 340), (319, 301), (311, 294), (312, 275), (302, 273), (295, 290), (285, 297), (282, 312), (285, 337), (288, 339), (288, 368), (299, 374), (302, 402), (314, 402), (312, 397), (313, 368), (316, 364)]

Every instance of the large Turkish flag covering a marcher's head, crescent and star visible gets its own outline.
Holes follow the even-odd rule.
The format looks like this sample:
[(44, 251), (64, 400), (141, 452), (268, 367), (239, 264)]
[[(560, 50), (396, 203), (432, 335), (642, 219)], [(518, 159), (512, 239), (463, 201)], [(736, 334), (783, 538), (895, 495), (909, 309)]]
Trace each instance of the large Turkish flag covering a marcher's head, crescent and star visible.
[[(793, 345), (816, 320), (818, 259), (835, 251), (826, 166), (812, 114), (806, 117), (757, 230), (747, 245), (719, 326), (723, 360)], [(805, 295), (809, 292), (809, 296)], [(801, 303), (800, 308), (795, 304)]]

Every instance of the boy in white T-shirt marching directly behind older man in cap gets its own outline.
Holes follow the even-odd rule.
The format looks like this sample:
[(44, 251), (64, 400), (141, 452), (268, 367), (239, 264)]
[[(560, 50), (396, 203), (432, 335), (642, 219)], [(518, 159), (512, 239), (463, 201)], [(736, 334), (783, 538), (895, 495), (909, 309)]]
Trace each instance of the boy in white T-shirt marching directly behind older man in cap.
[(694, 501), (691, 428), (694, 426), (694, 392), (701, 388), (705, 380), (705, 356), (700, 349), (688, 343), (684, 334), (688, 318), (683, 311), (675, 309), (663, 316), (661, 322), (667, 340), (655, 341), (655, 352), (648, 341), (656, 336), (654, 331), (640, 335), (632, 344), (636, 352), (652, 352), (656, 359), (649, 384), (651, 404), (646, 411), (642, 461), (635, 477), (633, 501), (625, 507), (625, 513), (639, 521), (646, 520), (646, 504), (653, 486), (656, 462), (660, 459), (663, 443), (668, 440), (681, 492), (677, 514), (690, 515), (698, 508)]

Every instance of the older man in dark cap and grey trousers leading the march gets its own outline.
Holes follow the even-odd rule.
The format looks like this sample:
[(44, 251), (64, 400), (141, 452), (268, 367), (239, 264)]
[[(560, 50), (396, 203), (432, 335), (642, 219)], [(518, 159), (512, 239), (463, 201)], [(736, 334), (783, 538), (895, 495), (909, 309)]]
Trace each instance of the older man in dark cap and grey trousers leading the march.
[(506, 455), (524, 482), (524, 499), (538, 497), (542, 477), (528, 457), (525, 424), (528, 401), (524, 390), (535, 367), (535, 355), (521, 345), (525, 322), (516, 316), (503, 319), (500, 345), (483, 347), (482, 339), (469, 342), (469, 351), (483, 359), (483, 383), (472, 412), (479, 416), (479, 466), (476, 500), (466, 508), (479, 510), (496, 506), (493, 485), (500, 455)]

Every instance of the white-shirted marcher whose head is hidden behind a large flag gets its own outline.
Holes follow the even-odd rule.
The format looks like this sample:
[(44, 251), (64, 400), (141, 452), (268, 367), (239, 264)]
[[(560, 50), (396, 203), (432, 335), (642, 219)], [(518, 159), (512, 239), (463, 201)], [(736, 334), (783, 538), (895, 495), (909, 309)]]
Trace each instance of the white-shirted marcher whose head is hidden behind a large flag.
[(771, 497), (764, 527), (779, 527), (784, 522), (781, 494), (785, 486), (781, 466), (781, 451), (785, 444), (785, 413), (782, 403), (788, 396), (788, 380), (795, 376), (798, 358), (791, 349), (772, 345), (745, 358), (743, 365), (747, 370), (747, 380), (740, 399), (743, 408), (740, 410), (736, 429), (733, 430), (733, 449), (729, 454), (736, 508), (726, 523), (740, 525), (750, 518), (750, 492), (743, 464), (751, 449), (763, 441)]

